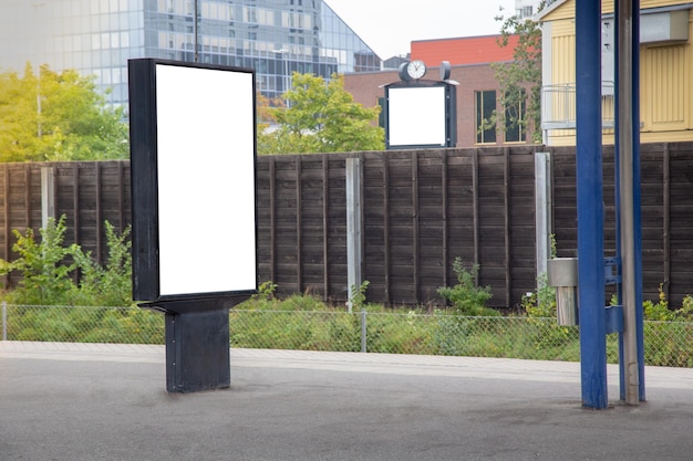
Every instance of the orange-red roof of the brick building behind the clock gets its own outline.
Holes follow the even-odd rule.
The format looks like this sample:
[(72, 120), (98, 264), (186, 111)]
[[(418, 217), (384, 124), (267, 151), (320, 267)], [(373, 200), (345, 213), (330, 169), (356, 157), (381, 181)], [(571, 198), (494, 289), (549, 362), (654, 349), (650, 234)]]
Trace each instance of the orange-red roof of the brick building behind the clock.
[(413, 41), (412, 60), (422, 60), (432, 67), (437, 66), (442, 61), (449, 61), (452, 65), (511, 61), (513, 50), (519, 38), (510, 35), (508, 45), (501, 48), (497, 42), (499, 36)]

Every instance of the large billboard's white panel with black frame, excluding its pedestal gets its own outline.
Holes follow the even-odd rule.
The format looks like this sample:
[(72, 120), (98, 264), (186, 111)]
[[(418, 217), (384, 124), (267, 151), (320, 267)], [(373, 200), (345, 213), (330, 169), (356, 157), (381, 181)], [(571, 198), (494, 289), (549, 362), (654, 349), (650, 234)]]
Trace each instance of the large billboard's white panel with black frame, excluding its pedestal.
[(133, 298), (257, 290), (255, 73), (128, 63)]

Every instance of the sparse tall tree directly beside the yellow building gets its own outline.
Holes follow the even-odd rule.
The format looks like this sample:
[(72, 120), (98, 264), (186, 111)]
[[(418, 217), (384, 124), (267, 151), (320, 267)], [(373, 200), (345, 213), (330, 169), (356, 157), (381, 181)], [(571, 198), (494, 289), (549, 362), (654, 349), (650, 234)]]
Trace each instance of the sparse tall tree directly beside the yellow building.
[[(539, 3), (539, 11), (547, 2)], [(513, 61), (493, 63), (496, 80), (500, 86), (499, 101), (505, 108), (495, 113), (489, 121), (496, 121), (505, 129), (508, 126), (529, 130), (534, 143), (541, 142), (541, 28), (531, 19), (518, 15), (506, 17), (503, 11), (496, 17), (501, 23), (499, 46), (508, 46), (510, 36), (517, 35), (518, 43), (513, 50)]]

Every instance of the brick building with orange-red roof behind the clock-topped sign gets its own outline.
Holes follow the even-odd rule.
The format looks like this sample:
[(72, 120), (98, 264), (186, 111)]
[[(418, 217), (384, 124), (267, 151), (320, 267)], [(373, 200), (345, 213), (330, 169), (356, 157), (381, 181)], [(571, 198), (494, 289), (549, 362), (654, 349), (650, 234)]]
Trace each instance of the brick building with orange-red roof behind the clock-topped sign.
[[(492, 62), (513, 60), (517, 38), (510, 38), (508, 46), (500, 48), (498, 35), (459, 39), (423, 40), (412, 42), (412, 60), (427, 65), (425, 80), (439, 80), (442, 61), (451, 63), (449, 80), (457, 85), (457, 147), (526, 144), (528, 134), (518, 126), (484, 126), (484, 119), (493, 111), (501, 111), (499, 85)], [(366, 107), (384, 105), (384, 85), (400, 81), (396, 70), (346, 74), (344, 87), (358, 103)], [(425, 115), (422, 115), (425, 116)], [(381, 117), (384, 126), (384, 118)]]

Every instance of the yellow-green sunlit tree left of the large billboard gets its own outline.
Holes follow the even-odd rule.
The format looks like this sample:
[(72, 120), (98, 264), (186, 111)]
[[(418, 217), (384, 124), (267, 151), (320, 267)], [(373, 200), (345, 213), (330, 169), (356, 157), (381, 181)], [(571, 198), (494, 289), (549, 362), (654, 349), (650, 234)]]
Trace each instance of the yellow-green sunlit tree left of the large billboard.
[(122, 108), (108, 108), (76, 71), (0, 73), (0, 161), (127, 158)]

